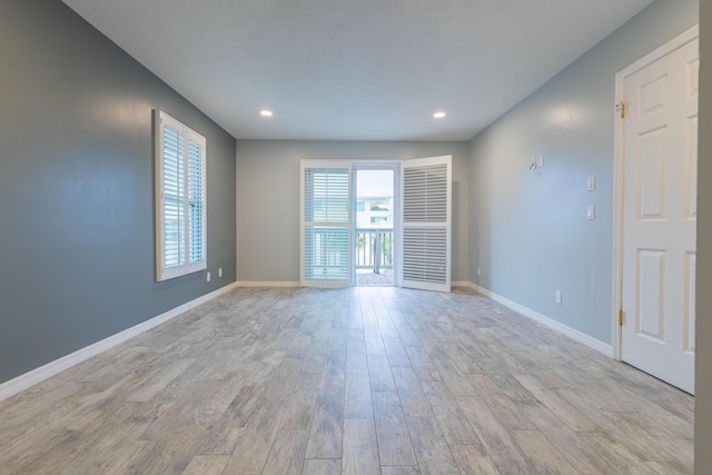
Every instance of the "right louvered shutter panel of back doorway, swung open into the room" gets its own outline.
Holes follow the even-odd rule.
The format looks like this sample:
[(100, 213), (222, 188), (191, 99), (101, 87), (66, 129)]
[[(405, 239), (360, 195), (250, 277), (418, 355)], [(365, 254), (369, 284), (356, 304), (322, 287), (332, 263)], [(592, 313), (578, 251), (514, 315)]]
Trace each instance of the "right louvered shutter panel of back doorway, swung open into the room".
[(400, 285), (451, 290), (452, 156), (403, 161)]

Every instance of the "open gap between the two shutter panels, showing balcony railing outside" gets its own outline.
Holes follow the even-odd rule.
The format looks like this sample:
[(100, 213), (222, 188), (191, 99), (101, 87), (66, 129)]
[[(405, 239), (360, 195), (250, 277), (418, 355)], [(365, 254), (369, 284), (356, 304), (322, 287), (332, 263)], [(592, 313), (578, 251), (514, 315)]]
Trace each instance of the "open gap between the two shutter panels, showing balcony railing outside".
[(353, 166), (354, 285), (393, 287), (397, 269), (398, 167)]

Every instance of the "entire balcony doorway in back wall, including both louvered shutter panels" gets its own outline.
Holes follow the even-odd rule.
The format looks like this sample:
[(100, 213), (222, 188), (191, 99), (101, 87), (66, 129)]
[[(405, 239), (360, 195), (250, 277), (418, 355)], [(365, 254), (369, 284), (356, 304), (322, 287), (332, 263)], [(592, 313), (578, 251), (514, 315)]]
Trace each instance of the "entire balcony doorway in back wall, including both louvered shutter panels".
[[(389, 162), (303, 159), (299, 168), (303, 287), (451, 291), (452, 156)], [(357, 269), (370, 280), (359, 284)]]

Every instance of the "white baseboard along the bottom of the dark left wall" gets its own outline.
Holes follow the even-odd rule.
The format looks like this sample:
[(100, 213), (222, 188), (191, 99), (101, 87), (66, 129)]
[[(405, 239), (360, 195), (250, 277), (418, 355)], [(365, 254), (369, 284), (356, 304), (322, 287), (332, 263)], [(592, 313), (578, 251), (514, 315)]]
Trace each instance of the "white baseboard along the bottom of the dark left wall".
[(206, 294), (201, 297), (196, 298), (195, 300), (188, 301), (179, 307), (168, 310), (165, 314), (158, 315), (150, 320), (142, 321), (138, 325), (125, 329), (123, 331), (119, 331), (118, 334), (111, 335), (108, 338), (78, 349), (75, 353), (62, 356), (59, 359), (55, 359), (53, 362), (40, 366), (39, 368), (24, 373), (13, 379), (10, 379), (9, 382), (2, 383), (0, 384), (0, 400), (14, 396), (16, 394), (27, 389), (30, 386), (34, 386), (36, 384), (41, 383), (44, 379), (49, 379), (50, 377), (58, 375), (59, 373), (69, 369), (72, 366), (91, 358), (92, 356), (106, 352), (107, 349), (120, 343), (123, 343), (127, 339), (140, 335), (154, 327), (157, 327), (158, 325), (164, 324), (171, 318), (175, 318), (178, 315), (184, 314), (201, 304), (205, 304), (206, 301), (211, 300), (219, 295), (230, 291), (236, 287), (237, 283), (228, 284), (227, 286), (214, 290), (210, 294)]

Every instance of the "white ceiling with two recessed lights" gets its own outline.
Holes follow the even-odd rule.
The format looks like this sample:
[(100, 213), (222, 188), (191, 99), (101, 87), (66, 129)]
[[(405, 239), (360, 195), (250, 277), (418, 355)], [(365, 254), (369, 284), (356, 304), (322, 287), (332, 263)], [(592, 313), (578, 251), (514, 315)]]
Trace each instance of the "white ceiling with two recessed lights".
[(63, 1), (236, 138), (338, 140), (468, 140), (652, 3)]

